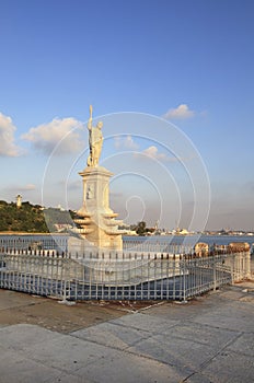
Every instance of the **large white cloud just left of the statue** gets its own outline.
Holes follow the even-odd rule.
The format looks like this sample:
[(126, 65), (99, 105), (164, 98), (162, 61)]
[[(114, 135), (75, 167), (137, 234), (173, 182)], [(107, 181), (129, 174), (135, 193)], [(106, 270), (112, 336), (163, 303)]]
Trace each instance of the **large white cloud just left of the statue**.
[(50, 154), (57, 146), (58, 154), (73, 153), (83, 149), (81, 128), (81, 123), (72, 117), (54, 118), (48, 124), (31, 128), (22, 139), (32, 142), (35, 149), (46, 154)]

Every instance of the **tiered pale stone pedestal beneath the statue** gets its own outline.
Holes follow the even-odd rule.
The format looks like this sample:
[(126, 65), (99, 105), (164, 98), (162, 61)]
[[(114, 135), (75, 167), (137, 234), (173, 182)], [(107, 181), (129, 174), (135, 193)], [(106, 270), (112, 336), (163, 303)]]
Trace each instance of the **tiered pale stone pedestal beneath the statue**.
[[(123, 248), (122, 234), (124, 231), (118, 230), (122, 221), (115, 220), (118, 216), (109, 208), (109, 177), (113, 175), (105, 167), (88, 166), (79, 173), (83, 178), (83, 205), (78, 210), (78, 219), (74, 220), (77, 225), (76, 232), (79, 234), (78, 247), (117, 249)], [(82, 248), (79, 248), (82, 251)], [(77, 249), (78, 251), (78, 249)]]

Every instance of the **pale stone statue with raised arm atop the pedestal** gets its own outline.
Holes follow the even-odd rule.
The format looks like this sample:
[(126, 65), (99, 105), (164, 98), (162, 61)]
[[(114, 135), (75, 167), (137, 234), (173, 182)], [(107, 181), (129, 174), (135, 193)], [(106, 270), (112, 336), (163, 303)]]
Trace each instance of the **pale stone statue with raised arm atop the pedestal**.
[(100, 159), (100, 155), (102, 152), (103, 123), (100, 121), (100, 123), (97, 123), (96, 126), (92, 126), (92, 113), (93, 113), (93, 107), (92, 107), (92, 105), (90, 105), (90, 118), (89, 118), (89, 123), (88, 123), (90, 154), (88, 158), (88, 166), (97, 166), (99, 159)]

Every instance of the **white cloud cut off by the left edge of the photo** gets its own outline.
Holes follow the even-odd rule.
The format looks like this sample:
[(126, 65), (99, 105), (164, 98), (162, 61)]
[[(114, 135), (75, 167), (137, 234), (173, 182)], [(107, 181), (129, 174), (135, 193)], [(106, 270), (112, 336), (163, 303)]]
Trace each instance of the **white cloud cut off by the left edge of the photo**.
[(21, 148), (14, 143), (15, 130), (11, 117), (0, 113), (0, 155), (18, 156), (22, 153)]

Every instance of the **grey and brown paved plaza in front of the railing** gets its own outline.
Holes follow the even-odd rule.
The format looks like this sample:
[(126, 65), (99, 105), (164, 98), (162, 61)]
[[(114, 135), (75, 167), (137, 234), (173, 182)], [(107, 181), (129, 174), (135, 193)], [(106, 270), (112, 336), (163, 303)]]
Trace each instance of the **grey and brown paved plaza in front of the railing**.
[(0, 383), (254, 381), (254, 281), (188, 303), (0, 290)]

